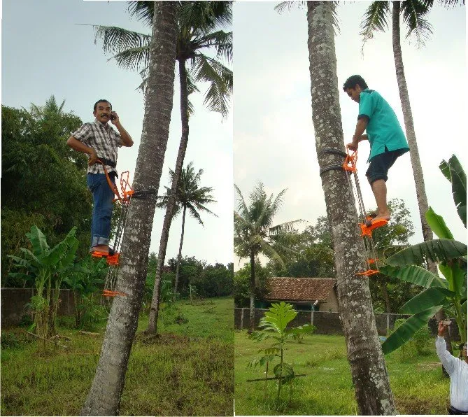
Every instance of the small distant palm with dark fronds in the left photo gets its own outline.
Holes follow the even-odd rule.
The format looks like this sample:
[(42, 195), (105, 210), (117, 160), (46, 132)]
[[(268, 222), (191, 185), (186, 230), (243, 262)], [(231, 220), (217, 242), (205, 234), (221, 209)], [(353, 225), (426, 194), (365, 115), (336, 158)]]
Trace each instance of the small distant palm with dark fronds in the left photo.
[[(178, 289), (178, 277), (179, 277), (179, 267), (180, 267), (180, 257), (182, 254), (182, 243), (185, 227), (185, 212), (189, 211), (190, 215), (193, 218), (197, 219), (200, 225), (203, 226), (203, 221), (200, 218), (200, 211), (215, 215), (213, 211), (205, 207), (206, 204), (215, 203), (216, 200), (213, 199), (213, 196), (210, 194), (213, 192), (211, 187), (199, 187), (199, 181), (201, 174), (203, 174), (203, 169), (199, 169), (198, 173), (195, 174), (195, 170), (190, 162), (185, 169), (182, 169), (180, 174), (180, 181), (177, 187), (176, 195), (176, 209), (174, 211), (173, 217), (176, 217), (180, 211), (182, 211), (182, 232), (180, 234), (180, 244), (179, 252), (177, 255), (177, 267), (176, 267), (176, 283), (174, 284), (174, 292), (177, 292)], [(169, 169), (169, 175), (171, 178), (174, 176), (174, 171)], [(162, 202), (157, 204), (159, 207), (166, 207), (171, 196), (171, 189), (166, 187), (166, 195), (162, 198)], [(215, 215), (218, 217), (217, 215)]]

